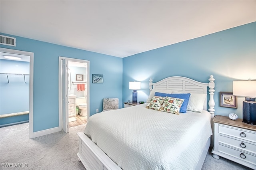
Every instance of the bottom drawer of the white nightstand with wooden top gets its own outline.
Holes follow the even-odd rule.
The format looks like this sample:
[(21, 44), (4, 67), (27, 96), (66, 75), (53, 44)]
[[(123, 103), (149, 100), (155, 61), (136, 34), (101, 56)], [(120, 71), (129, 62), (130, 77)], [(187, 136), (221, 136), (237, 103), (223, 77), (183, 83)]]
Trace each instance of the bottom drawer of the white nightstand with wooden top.
[(240, 160), (243, 160), (245, 162), (248, 162), (250, 164), (253, 164), (256, 166), (256, 155), (248, 154), (247, 152), (241, 152), (239, 150), (229, 148), (227, 146), (224, 146), (222, 144), (218, 144), (218, 152), (222, 152), (224, 154), (228, 154), (230, 156), (233, 156), (235, 158), (238, 158)]

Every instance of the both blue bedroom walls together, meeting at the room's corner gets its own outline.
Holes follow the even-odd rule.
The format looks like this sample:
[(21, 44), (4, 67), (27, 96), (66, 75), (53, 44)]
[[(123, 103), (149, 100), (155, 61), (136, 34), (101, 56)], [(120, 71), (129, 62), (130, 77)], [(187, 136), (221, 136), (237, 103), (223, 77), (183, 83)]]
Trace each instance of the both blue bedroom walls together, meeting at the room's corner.
[[(238, 109), (219, 107), (219, 92), (232, 91), (233, 80), (256, 79), (256, 22), (123, 59), (2, 35), (16, 37), (17, 43), (1, 47), (34, 52), (34, 132), (58, 127), (59, 56), (90, 61), (90, 115), (102, 110), (104, 97), (118, 97), (120, 108), (123, 101), (132, 100), (129, 81), (142, 82), (138, 101), (146, 101), (150, 77), (154, 82), (174, 75), (208, 82), (214, 75), (216, 115), (234, 112), (241, 118), (244, 98), (238, 99)], [(92, 83), (92, 74), (103, 74), (104, 83)]]

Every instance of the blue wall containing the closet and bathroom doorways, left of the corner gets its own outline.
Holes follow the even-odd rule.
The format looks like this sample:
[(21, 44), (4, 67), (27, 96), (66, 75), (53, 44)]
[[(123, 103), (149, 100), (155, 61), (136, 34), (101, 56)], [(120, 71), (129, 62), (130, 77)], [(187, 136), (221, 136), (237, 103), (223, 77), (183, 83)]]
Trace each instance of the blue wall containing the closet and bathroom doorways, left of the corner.
[[(1, 34), (16, 38), (16, 47), (2, 48), (34, 52), (34, 132), (59, 126), (59, 56), (90, 61), (90, 115), (102, 111), (105, 97), (118, 97), (122, 107), (122, 58)], [(103, 74), (104, 83), (92, 83), (92, 74)]]

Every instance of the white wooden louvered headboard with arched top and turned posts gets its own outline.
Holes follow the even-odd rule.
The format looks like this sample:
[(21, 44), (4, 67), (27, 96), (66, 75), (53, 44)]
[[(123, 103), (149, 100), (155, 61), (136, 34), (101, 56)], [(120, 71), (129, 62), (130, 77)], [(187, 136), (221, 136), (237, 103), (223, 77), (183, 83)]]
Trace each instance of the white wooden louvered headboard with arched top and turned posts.
[(213, 75), (210, 75), (208, 79), (209, 83), (202, 83), (199, 81), (192, 80), (187, 77), (180, 76), (172, 76), (162, 79), (156, 83), (152, 83), (152, 78), (149, 81), (149, 89), (167, 89), (172, 91), (181, 91), (184, 93), (204, 93), (207, 94), (207, 87), (209, 87), (209, 95), (210, 99), (206, 99), (204, 101), (204, 110), (207, 110), (207, 101), (209, 105), (208, 111), (211, 113), (212, 117), (214, 117), (214, 78)]

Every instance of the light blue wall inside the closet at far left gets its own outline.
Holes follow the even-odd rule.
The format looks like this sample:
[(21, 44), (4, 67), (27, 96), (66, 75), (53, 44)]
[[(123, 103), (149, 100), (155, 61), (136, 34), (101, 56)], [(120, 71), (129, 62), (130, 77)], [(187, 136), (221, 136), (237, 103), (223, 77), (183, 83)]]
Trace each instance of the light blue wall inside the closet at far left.
[[(29, 62), (0, 59), (0, 73), (29, 74)], [(8, 83), (9, 79), (9, 83)], [(0, 75), (0, 115), (29, 111), (29, 76)], [(0, 119), (0, 125), (28, 121), (28, 115)]]

